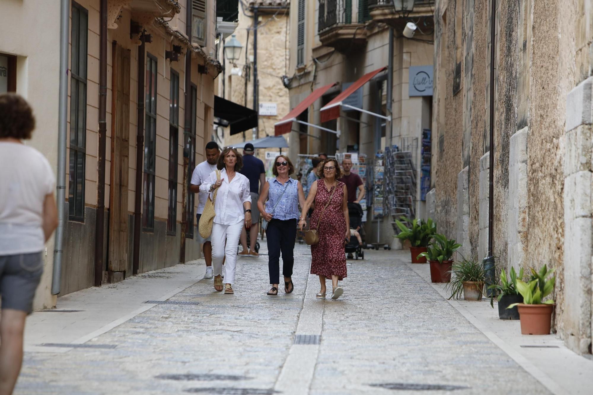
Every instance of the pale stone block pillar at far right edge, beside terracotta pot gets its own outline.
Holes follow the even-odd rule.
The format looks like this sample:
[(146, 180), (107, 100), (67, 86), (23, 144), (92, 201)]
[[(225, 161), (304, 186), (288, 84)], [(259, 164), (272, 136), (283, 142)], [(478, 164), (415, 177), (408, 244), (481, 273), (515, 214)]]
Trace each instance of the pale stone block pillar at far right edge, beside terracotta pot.
[(564, 299), (560, 335), (576, 352), (591, 352), (593, 225), (591, 185), (593, 77), (566, 99), (564, 161)]

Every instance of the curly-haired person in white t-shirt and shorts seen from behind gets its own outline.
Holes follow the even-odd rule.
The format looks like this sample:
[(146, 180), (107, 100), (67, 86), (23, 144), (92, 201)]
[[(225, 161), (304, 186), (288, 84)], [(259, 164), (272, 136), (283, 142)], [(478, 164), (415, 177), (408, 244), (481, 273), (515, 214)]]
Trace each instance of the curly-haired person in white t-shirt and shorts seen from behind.
[(0, 394), (11, 394), (23, 363), (25, 317), (43, 273), (42, 250), (58, 226), (49, 162), (23, 144), (35, 128), (19, 95), (0, 95)]

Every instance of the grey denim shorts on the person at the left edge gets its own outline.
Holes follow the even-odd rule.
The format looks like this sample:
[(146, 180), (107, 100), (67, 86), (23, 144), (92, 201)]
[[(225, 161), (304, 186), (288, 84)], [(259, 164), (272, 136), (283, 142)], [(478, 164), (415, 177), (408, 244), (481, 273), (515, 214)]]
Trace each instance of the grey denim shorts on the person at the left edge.
[(41, 275), (41, 253), (0, 255), (0, 296), (2, 308), (33, 311), (33, 297)]

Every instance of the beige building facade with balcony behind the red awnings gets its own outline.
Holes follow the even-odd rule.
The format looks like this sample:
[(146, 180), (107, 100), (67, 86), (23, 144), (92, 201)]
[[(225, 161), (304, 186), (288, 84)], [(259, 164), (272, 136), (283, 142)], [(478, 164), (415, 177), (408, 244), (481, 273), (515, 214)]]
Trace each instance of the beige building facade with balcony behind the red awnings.
[[(299, 139), (300, 144), (291, 144), (291, 157), (319, 152), (334, 155), (350, 148), (350, 151), (373, 159), (375, 153), (384, 151), (385, 147), (397, 145), (403, 151), (413, 152), (416, 177), (420, 180), (422, 134), (423, 129), (431, 128), (433, 104), (429, 95), (410, 95), (410, 81), (413, 81), (410, 68), (426, 66), (432, 72), (433, 5), (433, 1), (416, 1), (412, 12), (402, 13), (394, 11), (391, 1), (383, 0), (291, 2), (290, 107), (294, 109), (317, 88), (335, 83), (301, 114), (299, 120), (340, 131), (337, 136), (293, 123), (289, 135), (291, 141)], [(334, 9), (339, 15), (335, 18)], [(412, 20), (419, 30), (410, 39), (402, 32), (406, 23)], [(302, 25), (300, 36), (299, 26)], [(391, 87), (388, 87), (390, 28), (394, 35), (393, 71)], [(360, 88), (362, 94), (357, 103), (362, 110), (389, 116), (390, 120), (342, 107), (338, 119), (321, 122), (323, 106), (350, 84), (380, 68), (385, 70)], [(392, 92), (391, 103), (388, 103), (388, 90)], [(420, 199), (420, 182), (416, 188), (415, 211), (418, 216), (426, 216), (426, 203)], [(369, 183), (366, 189), (371, 190), (372, 184)], [(367, 194), (367, 198), (371, 196)], [(377, 224), (369, 214), (365, 224), (366, 240), (391, 244), (394, 240), (391, 221), (386, 215)]]

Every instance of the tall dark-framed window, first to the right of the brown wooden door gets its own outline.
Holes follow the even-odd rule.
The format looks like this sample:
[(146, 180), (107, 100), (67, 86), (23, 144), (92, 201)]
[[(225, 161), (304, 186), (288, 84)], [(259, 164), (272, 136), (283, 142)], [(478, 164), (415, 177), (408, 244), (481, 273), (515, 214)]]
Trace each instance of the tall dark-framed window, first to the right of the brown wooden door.
[(154, 189), (157, 163), (157, 58), (146, 54), (146, 115), (144, 123), (144, 186), (142, 227), (154, 230)]

